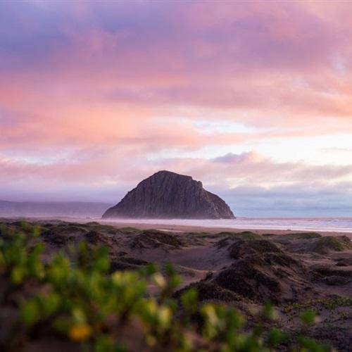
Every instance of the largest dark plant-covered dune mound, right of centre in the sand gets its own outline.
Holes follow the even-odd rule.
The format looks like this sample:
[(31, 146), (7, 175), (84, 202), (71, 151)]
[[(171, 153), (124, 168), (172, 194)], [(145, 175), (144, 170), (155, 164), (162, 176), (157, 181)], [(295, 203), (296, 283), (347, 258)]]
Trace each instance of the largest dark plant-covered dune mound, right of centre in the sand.
[(263, 237), (221, 241), (235, 261), (211, 279), (220, 287), (262, 303), (305, 299), (310, 270), (277, 244)]

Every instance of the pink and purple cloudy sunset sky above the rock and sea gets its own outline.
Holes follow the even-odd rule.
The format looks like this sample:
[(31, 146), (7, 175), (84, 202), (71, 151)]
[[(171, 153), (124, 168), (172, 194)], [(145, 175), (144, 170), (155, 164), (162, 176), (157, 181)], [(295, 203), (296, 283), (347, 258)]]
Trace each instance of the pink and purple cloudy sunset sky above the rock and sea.
[(1, 1), (0, 199), (158, 170), (239, 216), (352, 216), (352, 1)]

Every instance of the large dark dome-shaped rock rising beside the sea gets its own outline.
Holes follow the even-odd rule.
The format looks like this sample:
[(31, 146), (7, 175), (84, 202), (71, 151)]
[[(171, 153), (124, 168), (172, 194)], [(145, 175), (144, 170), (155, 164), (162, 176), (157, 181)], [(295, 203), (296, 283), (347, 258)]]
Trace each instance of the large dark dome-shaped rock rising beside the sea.
[(200, 181), (170, 171), (159, 171), (140, 182), (103, 218), (234, 219), (225, 201)]

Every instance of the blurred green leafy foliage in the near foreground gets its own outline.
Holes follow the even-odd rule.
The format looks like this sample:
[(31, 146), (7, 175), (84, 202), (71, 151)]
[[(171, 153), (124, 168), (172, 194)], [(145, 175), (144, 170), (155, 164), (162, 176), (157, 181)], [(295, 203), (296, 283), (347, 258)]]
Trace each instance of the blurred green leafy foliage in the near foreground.
[[(196, 289), (172, 298), (180, 285), (172, 265), (163, 268), (163, 275), (154, 265), (110, 274), (108, 250), (85, 242), (69, 255), (58, 253), (44, 261), (39, 232), (31, 233), (1, 229), (1, 277), (12, 290), (31, 287), (16, 301), (21, 328), (12, 336), (15, 341), (31, 339), (34, 331), (40, 337), (49, 328), (54, 336), (79, 343), (83, 351), (250, 352), (289, 346), (279, 329), (244, 329), (244, 317), (232, 306), (200, 303)], [(149, 293), (149, 285), (157, 288), (156, 294)], [(262, 320), (277, 316), (269, 303), (259, 315)], [(301, 319), (313, 323), (315, 314), (307, 311)], [(304, 337), (292, 348), (327, 349)]]

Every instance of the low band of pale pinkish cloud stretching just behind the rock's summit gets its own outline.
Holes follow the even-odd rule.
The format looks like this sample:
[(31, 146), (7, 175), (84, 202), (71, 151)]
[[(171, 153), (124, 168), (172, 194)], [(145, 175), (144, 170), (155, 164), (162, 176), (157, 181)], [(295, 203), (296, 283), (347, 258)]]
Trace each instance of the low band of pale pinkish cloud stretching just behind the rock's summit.
[[(352, 175), (352, 165), (306, 165), (305, 163), (279, 163), (255, 152), (228, 153), (218, 158), (170, 158), (144, 162), (138, 149), (109, 151), (87, 149), (77, 151), (70, 160), (35, 163), (0, 159), (3, 182), (40, 180), (39, 183), (73, 182), (96, 183), (101, 181), (134, 184), (152, 172), (168, 169), (193, 175), (206, 184), (219, 183), (231, 188), (234, 184), (282, 184), (314, 180), (315, 182), (341, 182)], [(27, 181), (26, 181), (27, 182)]]

